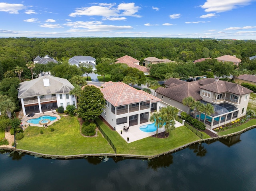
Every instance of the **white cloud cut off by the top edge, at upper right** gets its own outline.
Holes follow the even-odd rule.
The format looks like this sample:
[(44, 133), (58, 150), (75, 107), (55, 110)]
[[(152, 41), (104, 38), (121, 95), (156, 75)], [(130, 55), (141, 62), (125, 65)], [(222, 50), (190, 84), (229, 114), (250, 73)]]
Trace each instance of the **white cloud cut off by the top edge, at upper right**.
[(250, 4), (253, 0), (207, 0), (201, 8), (205, 12), (225, 12), (241, 6)]

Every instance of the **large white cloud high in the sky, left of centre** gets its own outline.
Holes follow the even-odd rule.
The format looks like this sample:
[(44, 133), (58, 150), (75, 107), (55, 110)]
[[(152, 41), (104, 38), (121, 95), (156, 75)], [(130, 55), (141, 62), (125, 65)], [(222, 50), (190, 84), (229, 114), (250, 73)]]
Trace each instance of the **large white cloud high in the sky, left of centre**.
[(118, 6), (116, 4), (98, 4), (90, 7), (82, 7), (75, 10), (75, 12), (69, 14), (70, 17), (76, 16), (102, 16), (103, 18), (117, 18), (120, 16), (135, 16), (139, 6), (135, 6), (134, 3), (121, 3)]

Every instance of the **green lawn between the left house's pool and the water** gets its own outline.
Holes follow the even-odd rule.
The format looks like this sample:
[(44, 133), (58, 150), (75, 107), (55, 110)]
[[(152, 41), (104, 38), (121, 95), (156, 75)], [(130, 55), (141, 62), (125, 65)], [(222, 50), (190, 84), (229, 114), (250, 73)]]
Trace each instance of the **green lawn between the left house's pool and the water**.
[[(51, 132), (50, 128), (54, 131)], [(43, 134), (40, 134), (41, 130)], [(17, 148), (53, 155), (114, 153), (100, 132), (96, 137), (82, 136), (76, 116), (62, 116), (48, 128), (28, 127), (24, 138), (17, 141)]]

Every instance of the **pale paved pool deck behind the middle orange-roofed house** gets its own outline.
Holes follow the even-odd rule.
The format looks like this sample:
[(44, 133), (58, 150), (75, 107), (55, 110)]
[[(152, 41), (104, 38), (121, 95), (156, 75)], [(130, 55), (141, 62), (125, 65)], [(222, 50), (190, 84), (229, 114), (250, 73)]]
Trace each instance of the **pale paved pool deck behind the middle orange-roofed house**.
[[(176, 128), (182, 126), (182, 124), (180, 122), (178, 122), (178, 121), (175, 121), (175, 122), (176, 122), (176, 124), (175, 124)], [(146, 123), (143, 123), (143, 124), (129, 126), (129, 131), (128, 132), (123, 131), (122, 134), (121, 134), (121, 129), (116, 130), (116, 132), (118, 132), (118, 134), (120, 134), (120, 136), (126, 142), (128, 142), (127, 137), (129, 137), (129, 142), (128, 143), (131, 143), (131, 142), (134, 142), (134, 141), (137, 141), (137, 140), (140, 140), (140, 139), (144, 139), (144, 138), (147, 138), (147, 137), (150, 137), (150, 136), (156, 134), (156, 131), (144, 132), (144, 131), (140, 130), (140, 126), (148, 125), (148, 124), (152, 124), (152, 122), (146, 122)], [(164, 131), (165, 131), (164, 127), (158, 129), (158, 133), (162, 133)]]

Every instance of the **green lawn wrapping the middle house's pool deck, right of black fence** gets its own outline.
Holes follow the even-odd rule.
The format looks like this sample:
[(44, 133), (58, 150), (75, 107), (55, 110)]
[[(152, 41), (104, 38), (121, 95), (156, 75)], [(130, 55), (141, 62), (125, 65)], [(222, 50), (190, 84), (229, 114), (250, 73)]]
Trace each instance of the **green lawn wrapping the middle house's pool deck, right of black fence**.
[(200, 140), (188, 128), (181, 126), (176, 128), (168, 138), (148, 137), (128, 144), (116, 131), (111, 130), (100, 119), (96, 121), (113, 142), (117, 154), (157, 155)]

